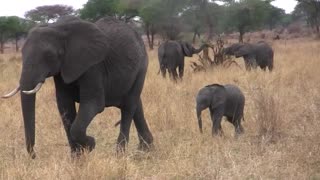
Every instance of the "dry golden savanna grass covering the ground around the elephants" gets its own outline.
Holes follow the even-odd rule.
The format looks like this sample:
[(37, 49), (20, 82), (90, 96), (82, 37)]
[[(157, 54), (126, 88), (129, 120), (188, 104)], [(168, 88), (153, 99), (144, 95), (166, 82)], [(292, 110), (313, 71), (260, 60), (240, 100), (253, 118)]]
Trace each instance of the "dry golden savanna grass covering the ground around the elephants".
[[(187, 58), (182, 82), (162, 79), (156, 50), (142, 94), (155, 149), (137, 151), (132, 125), (129, 147), (117, 157), (120, 118), (105, 109), (88, 128), (96, 149), (72, 160), (55, 102), (52, 79), (36, 102), (37, 158), (26, 152), (20, 96), (0, 100), (0, 179), (320, 179), (320, 42), (299, 39), (273, 42), (275, 69), (247, 72), (237, 66), (193, 73)], [(194, 56), (195, 60), (197, 56)], [(0, 56), (0, 93), (18, 84), (19, 54)], [(211, 136), (203, 113), (204, 134), (197, 127), (195, 95), (212, 83), (238, 85), (246, 96), (245, 134), (223, 121), (224, 136)]]

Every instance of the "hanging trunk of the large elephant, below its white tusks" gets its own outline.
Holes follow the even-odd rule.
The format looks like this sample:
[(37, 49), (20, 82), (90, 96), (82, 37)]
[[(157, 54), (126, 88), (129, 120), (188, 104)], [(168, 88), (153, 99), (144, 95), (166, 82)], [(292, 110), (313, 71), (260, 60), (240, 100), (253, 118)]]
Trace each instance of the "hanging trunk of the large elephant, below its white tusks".
[(35, 144), (35, 100), (36, 95), (21, 92), (21, 107), (24, 121), (24, 132), (27, 151), (32, 159), (36, 157), (33, 150)]

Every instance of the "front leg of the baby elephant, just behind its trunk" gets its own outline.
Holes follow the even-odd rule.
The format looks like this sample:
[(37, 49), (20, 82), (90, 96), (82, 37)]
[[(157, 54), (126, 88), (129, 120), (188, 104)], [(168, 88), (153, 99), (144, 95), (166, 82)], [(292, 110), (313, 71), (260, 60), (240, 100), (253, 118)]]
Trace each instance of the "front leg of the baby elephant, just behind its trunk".
[(222, 107), (210, 109), (210, 116), (212, 120), (212, 136), (222, 135), (221, 120), (223, 117), (224, 109)]

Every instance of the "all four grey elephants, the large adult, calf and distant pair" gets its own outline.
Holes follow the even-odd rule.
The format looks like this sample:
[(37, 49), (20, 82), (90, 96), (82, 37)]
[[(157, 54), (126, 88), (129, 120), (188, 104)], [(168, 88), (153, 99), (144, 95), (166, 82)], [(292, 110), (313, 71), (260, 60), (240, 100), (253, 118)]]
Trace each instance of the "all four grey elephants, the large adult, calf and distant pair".
[[(183, 77), (184, 56), (199, 53), (191, 44), (167, 41), (159, 47), (160, 71), (172, 78)], [(226, 54), (244, 57), (246, 66), (273, 67), (272, 49), (261, 43), (240, 44)], [(267, 49), (267, 50), (266, 50)], [(263, 51), (266, 51), (265, 54)], [(270, 59), (271, 58), (271, 59)], [(81, 155), (95, 147), (87, 127), (105, 107), (121, 111), (117, 151), (129, 141), (132, 120), (138, 132), (139, 149), (153, 147), (153, 136), (144, 117), (141, 92), (148, 67), (148, 56), (141, 36), (129, 25), (110, 17), (95, 23), (73, 16), (41, 25), (29, 31), (22, 48), (22, 72), (18, 86), (3, 96), (21, 96), (26, 148), (35, 158), (35, 101), (45, 80), (53, 77), (57, 107), (72, 154)], [(79, 103), (78, 111), (76, 103)], [(202, 132), (201, 111), (209, 108), (213, 134), (221, 132), (221, 118), (226, 116), (236, 134), (243, 132), (241, 119), (245, 98), (234, 85), (212, 84), (202, 88), (197, 97), (197, 117)]]

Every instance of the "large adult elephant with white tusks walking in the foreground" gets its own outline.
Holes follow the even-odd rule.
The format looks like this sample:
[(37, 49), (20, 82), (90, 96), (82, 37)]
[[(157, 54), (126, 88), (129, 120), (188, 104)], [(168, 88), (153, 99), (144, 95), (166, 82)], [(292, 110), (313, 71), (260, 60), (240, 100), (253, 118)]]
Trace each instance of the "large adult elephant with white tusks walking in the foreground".
[[(95, 147), (86, 130), (105, 107), (121, 109), (117, 149), (129, 140), (132, 119), (139, 148), (152, 145), (153, 137), (141, 102), (148, 66), (141, 37), (125, 23), (103, 18), (90, 23), (75, 17), (32, 29), (22, 49), (19, 86), (5, 98), (21, 92), (27, 151), (35, 158), (35, 99), (46, 78), (53, 77), (57, 106), (71, 147), (81, 154)], [(75, 103), (79, 103), (76, 112)]]

